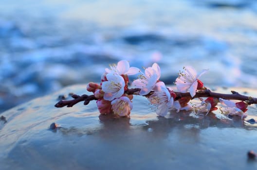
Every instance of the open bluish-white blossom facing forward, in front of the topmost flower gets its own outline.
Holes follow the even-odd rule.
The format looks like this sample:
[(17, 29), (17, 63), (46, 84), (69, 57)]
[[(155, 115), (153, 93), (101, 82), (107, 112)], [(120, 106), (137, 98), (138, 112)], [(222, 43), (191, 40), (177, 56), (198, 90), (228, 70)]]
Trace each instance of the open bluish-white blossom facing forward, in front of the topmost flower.
[(119, 98), (124, 93), (125, 82), (122, 76), (116, 74), (107, 74), (108, 81), (103, 82), (102, 90), (104, 93), (104, 100), (112, 101), (115, 98)]

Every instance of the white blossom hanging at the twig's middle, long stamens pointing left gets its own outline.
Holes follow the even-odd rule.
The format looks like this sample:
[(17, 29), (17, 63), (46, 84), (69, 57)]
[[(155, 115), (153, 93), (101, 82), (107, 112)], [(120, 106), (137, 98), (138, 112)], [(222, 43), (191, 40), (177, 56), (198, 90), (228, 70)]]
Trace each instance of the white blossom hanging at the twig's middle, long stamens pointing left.
[(159, 82), (157, 86), (160, 86), (159, 90), (155, 91), (148, 100), (151, 104), (157, 106), (157, 115), (165, 116), (168, 113), (168, 109), (172, 106), (174, 99), (163, 82)]

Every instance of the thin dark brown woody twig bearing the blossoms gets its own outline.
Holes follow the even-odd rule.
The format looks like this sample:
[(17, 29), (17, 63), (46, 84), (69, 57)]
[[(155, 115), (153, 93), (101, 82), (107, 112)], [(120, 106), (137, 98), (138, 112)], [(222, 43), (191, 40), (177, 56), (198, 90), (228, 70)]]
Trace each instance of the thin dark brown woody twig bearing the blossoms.
[[(125, 91), (125, 94), (128, 95), (139, 95), (140, 92), (140, 88), (130, 88), (127, 91)], [(145, 97), (149, 97), (151, 94), (153, 93), (153, 91), (150, 91), (147, 95), (145, 95)], [(179, 100), (181, 98), (184, 97), (191, 97), (190, 93), (181, 93), (181, 92), (174, 92), (176, 94), (176, 99), (175, 100)], [(253, 98), (250, 96), (244, 96), (239, 94), (236, 91), (231, 91), (232, 94), (223, 94), (223, 93), (215, 93), (212, 92), (209, 89), (206, 90), (199, 90), (198, 92), (196, 92), (196, 95), (192, 98), (200, 98), (200, 97), (213, 97), (213, 98), (222, 98), (222, 99), (226, 99), (226, 100), (239, 100), (239, 101), (245, 101), (248, 104), (257, 104), (257, 98)], [(55, 104), (55, 107), (72, 107), (73, 105), (75, 105), (78, 102), (83, 102), (84, 101), (84, 105), (89, 104), (90, 101), (93, 100), (98, 100), (97, 98), (94, 97), (94, 95), (86, 95), (83, 94), (82, 96), (79, 95), (72, 95), (73, 100), (69, 100), (69, 101), (64, 101), (61, 100), (59, 102), (57, 102)]]

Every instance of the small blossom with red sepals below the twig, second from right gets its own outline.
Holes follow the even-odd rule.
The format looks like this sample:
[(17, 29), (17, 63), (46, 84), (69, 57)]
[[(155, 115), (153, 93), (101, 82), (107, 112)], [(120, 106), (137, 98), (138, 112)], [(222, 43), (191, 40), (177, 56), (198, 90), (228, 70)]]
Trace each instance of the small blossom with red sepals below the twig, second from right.
[(216, 107), (219, 100), (213, 97), (208, 97), (207, 99), (203, 100), (202, 98), (199, 98), (201, 103), (197, 103), (193, 105), (193, 110), (196, 113), (203, 113), (207, 112), (205, 116), (208, 115), (209, 112), (217, 110)]

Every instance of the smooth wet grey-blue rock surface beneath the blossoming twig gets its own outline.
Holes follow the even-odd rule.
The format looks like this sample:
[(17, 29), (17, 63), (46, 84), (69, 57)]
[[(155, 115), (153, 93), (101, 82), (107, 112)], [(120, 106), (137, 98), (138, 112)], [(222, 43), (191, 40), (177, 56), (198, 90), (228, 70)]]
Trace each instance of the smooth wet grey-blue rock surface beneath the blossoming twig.
[[(218, 88), (229, 93), (230, 89)], [(257, 90), (233, 88), (257, 96)], [(190, 112), (157, 117), (135, 96), (130, 118), (100, 115), (95, 102), (55, 108), (57, 98), (86, 94), (86, 85), (18, 105), (0, 116), (1, 170), (256, 169), (256, 105), (245, 121)], [(55, 123), (55, 124), (53, 124)], [(50, 128), (51, 127), (51, 128)]]

